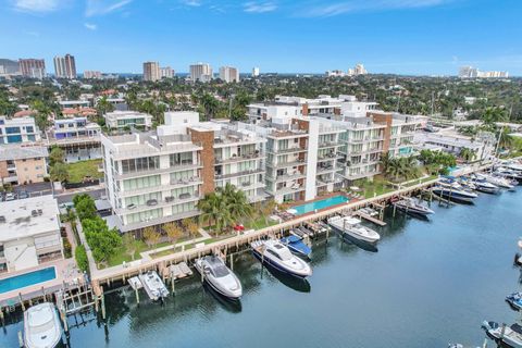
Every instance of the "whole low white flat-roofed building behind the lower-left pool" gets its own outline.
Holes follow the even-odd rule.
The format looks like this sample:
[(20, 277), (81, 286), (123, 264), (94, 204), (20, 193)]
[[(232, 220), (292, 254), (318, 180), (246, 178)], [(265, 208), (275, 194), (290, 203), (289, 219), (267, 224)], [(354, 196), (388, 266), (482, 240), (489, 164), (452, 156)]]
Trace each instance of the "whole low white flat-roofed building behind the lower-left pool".
[(50, 196), (0, 203), (0, 272), (63, 258), (57, 200)]

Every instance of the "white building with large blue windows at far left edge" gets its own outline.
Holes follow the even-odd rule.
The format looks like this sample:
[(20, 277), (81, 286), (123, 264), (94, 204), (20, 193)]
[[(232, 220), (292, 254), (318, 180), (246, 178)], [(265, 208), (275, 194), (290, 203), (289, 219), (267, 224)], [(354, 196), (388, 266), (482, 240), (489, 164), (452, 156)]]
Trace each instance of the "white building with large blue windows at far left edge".
[(35, 119), (0, 116), (0, 145), (40, 141), (40, 130)]

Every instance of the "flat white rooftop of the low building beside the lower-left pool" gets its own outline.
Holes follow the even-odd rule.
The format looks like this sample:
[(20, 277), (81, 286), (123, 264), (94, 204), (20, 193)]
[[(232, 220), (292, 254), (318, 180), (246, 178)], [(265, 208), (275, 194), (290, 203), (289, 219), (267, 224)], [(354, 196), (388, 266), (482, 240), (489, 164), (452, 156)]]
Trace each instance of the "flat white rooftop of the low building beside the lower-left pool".
[(0, 243), (59, 231), (59, 214), (51, 195), (1, 202)]

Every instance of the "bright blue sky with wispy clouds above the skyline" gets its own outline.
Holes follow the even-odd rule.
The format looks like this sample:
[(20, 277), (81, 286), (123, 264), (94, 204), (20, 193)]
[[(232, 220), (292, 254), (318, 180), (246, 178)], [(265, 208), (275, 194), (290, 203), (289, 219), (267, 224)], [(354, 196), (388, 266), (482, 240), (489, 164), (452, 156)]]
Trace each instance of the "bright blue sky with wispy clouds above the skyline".
[(522, 76), (521, 0), (0, 0), (0, 58), (71, 53), (78, 72), (176, 72), (208, 62), (249, 73)]

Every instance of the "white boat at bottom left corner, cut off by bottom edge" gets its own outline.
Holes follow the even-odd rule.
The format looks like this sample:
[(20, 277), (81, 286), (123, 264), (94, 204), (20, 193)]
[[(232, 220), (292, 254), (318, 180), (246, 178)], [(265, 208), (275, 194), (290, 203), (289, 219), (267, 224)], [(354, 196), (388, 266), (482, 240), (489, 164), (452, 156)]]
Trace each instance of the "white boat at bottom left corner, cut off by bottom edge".
[(62, 339), (62, 327), (53, 303), (44, 302), (24, 313), (24, 343), (27, 348), (53, 348)]

